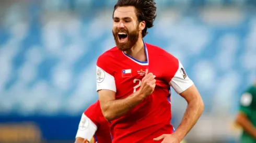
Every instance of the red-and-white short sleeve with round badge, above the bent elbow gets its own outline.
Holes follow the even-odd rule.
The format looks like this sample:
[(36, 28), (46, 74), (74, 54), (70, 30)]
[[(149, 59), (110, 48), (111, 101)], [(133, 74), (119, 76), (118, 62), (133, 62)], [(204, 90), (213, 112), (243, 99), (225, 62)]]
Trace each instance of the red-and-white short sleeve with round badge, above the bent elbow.
[(114, 80), (114, 72), (108, 57), (101, 55), (97, 60), (97, 92), (101, 89), (117, 92)]

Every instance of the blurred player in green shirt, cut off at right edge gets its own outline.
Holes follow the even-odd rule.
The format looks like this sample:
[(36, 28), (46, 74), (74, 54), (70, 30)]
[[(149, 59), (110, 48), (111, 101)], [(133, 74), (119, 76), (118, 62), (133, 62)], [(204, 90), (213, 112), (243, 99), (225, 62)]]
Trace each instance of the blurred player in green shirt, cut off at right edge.
[(243, 129), (241, 142), (256, 142), (256, 84), (241, 96), (236, 123)]

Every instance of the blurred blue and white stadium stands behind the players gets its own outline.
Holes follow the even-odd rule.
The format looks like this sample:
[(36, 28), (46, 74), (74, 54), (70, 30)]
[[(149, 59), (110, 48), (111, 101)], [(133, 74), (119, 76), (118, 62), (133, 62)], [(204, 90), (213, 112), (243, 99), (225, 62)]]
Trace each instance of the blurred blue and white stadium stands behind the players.
[[(117, 0), (0, 2), (0, 142), (74, 142), (97, 100)], [(178, 57), (205, 102), (187, 142), (237, 142), (239, 97), (256, 79), (256, 1), (158, 0), (145, 41)], [(186, 102), (172, 92), (172, 124)]]

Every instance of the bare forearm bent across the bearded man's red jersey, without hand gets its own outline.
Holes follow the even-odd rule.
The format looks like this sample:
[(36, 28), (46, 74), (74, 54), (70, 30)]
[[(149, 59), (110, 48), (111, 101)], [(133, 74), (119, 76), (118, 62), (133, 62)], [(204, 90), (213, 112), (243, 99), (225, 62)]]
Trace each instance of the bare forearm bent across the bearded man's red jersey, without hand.
[(135, 92), (124, 99), (107, 101), (104, 103), (104, 111), (102, 111), (102, 113), (108, 121), (112, 121), (133, 109), (142, 102), (142, 100), (142, 96), (140, 96), (138, 92)]

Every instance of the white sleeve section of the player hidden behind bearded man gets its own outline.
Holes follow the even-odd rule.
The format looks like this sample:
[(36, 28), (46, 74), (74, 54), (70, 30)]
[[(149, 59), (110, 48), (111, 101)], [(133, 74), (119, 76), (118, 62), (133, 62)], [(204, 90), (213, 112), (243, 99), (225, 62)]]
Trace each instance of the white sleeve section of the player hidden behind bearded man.
[(76, 133), (76, 138), (80, 137), (91, 140), (96, 131), (97, 126), (83, 113)]

